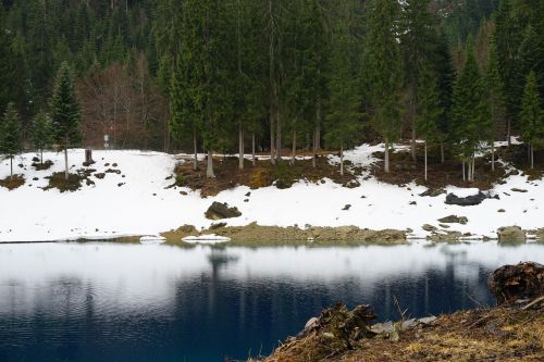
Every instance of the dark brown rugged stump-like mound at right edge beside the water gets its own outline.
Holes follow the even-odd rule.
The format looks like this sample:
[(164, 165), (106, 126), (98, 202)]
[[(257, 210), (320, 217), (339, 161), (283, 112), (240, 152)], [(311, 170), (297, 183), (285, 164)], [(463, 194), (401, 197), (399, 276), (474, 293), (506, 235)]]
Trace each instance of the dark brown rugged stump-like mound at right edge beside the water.
[(544, 295), (544, 265), (526, 262), (500, 266), (490, 274), (487, 287), (498, 304), (541, 297)]

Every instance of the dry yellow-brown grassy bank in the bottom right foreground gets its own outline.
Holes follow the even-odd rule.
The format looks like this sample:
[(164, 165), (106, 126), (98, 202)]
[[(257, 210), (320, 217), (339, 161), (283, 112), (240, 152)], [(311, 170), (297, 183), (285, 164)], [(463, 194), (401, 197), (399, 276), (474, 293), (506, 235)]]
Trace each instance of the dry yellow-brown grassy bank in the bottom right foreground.
[[(317, 339), (287, 340), (261, 361), (543, 361), (544, 305), (492, 308), (440, 316), (429, 326), (398, 332), (397, 338), (363, 338), (351, 350), (311, 358)], [(396, 337), (396, 336), (395, 336)], [(308, 358), (310, 357), (310, 358)], [(256, 360), (252, 360), (256, 361)]]

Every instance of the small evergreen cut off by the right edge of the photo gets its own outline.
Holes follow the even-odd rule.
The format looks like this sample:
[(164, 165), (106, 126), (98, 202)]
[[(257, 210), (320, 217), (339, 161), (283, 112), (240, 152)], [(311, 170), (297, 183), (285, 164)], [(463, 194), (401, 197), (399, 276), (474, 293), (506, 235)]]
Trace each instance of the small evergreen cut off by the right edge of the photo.
[(534, 168), (534, 148), (540, 148), (544, 142), (544, 118), (540, 105), (536, 75), (534, 72), (527, 76), (526, 88), (521, 99), (519, 122), (523, 141), (529, 148), (529, 162)]

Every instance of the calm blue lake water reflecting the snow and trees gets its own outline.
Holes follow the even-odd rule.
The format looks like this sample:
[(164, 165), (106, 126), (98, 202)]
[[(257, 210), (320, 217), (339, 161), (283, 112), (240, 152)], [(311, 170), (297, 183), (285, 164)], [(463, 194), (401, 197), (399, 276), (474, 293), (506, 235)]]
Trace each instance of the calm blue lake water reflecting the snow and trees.
[(357, 248), (0, 245), (0, 361), (268, 353), (337, 300), (398, 319), (492, 304), (487, 274), (544, 245)]

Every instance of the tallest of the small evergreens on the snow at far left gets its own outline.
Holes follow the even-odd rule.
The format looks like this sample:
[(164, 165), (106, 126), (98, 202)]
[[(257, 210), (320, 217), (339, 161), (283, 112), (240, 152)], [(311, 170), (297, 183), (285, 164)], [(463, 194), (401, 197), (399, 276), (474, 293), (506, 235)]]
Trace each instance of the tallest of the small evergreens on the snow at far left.
[(72, 84), (72, 74), (66, 62), (62, 63), (49, 101), (53, 140), (64, 150), (64, 178), (69, 180), (67, 149), (82, 141), (79, 103)]

